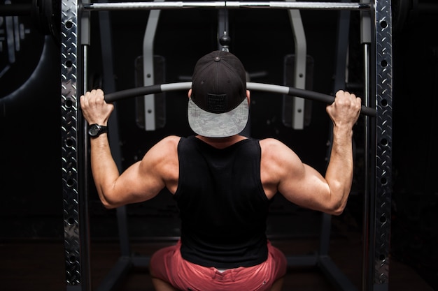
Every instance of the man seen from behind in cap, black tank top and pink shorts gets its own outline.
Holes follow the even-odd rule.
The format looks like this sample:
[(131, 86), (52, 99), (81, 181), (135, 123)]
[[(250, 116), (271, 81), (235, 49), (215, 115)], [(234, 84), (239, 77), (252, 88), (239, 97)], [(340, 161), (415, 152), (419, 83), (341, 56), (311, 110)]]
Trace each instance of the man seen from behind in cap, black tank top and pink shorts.
[[(327, 106), (334, 128), (323, 177), (278, 140), (239, 135), (250, 93), (233, 54), (215, 51), (199, 59), (188, 96), (188, 121), (197, 135), (165, 137), (122, 174), (105, 130), (92, 133), (92, 174), (101, 202), (107, 208), (143, 202), (163, 188), (174, 195), (181, 239), (151, 258), (156, 290), (281, 290), (286, 260), (265, 234), (269, 201), (281, 193), (301, 207), (342, 213), (361, 100), (338, 91)], [(106, 126), (113, 111), (100, 89), (81, 96), (80, 105), (90, 128)]]

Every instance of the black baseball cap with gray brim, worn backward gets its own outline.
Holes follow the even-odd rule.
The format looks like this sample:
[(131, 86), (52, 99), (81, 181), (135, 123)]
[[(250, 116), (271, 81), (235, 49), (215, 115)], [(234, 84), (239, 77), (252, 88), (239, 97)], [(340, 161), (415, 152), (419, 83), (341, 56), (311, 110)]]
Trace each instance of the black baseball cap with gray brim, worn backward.
[(217, 50), (195, 65), (188, 103), (190, 128), (205, 137), (241, 133), (248, 122), (246, 71), (234, 54)]

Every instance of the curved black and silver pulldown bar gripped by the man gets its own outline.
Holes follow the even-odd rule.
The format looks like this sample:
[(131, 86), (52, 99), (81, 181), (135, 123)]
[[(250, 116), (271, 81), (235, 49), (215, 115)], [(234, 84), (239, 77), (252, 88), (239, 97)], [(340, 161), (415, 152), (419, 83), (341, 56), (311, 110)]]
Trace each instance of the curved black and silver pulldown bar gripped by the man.
[[(191, 87), (192, 87), (192, 82), (156, 84), (152, 86), (138, 87), (134, 89), (127, 89), (114, 93), (109, 93), (105, 95), (105, 100), (108, 103), (112, 103), (117, 100), (127, 99), (136, 96), (144, 96), (148, 94), (158, 94), (165, 91), (188, 90)], [(333, 96), (314, 92), (314, 91), (304, 90), (304, 89), (297, 89), (294, 87), (286, 87), (286, 86), (279, 86), (274, 84), (264, 84), (264, 83), (254, 83), (254, 82), (247, 82), (246, 87), (248, 90), (268, 91), (278, 94), (301, 97), (301, 98), (319, 101), (327, 104), (331, 104), (334, 101)], [(362, 107), (360, 108), (360, 113), (370, 117), (376, 116), (376, 110), (372, 107), (366, 107), (365, 105), (362, 105)]]

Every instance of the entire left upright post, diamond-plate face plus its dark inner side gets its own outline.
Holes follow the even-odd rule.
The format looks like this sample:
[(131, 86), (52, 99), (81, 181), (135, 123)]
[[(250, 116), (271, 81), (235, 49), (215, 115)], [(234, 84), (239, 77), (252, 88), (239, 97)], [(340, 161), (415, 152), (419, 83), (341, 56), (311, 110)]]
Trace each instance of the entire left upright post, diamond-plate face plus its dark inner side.
[(61, 11), (61, 110), (62, 110), (62, 186), (64, 202), (64, 249), (67, 290), (90, 290), (90, 260), (87, 195), (85, 193), (85, 154), (81, 119), (78, 117), (78, 88), (83, 86), (80, 69), (84, 60), (80, 50), (81, 12), (74, 0), (63, 0)]

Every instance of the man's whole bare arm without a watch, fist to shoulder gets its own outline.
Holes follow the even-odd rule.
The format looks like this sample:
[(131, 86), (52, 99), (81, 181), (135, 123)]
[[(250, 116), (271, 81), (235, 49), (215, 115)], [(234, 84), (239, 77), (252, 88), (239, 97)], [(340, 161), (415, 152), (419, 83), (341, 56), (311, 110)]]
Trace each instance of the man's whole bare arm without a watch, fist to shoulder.
[(344, 211), (353, 180), (353, 125), (360, 112), (360, 98), (339, 91), (327, 107), (332, 118), (333, 144), (325, 177), (302, 163), (285, 144), (262, 140), (262, 183), (267, 195), (275, 191), (295, 204), (339, 215)]

